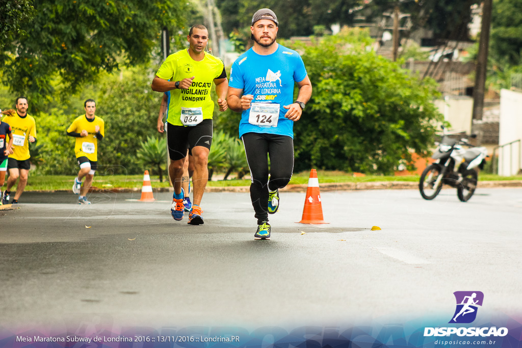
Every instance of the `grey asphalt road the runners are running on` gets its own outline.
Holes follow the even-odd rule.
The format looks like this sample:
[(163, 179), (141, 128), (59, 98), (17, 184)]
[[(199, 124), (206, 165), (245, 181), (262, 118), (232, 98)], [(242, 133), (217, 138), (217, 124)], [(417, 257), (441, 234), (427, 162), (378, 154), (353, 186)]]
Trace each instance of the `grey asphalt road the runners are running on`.
[[(329, 224), (303, 225), (304, 193), (282, 193), (272, 239), (255, 241), (245, 193), (205, 193), (205, 224), (170, 216), (171, 194), (25, 193), (0, 211), (0, 325), (96, 318), (130, 326), (273, 326), (453, 314), (453, 292), (485, 313), (520, 313), (522, 189), (322, 193)], [(372, 226), (381, 230), (371, 231)], [(304, 233), (303, 233), (304, 232)], [(517, 275), (518, 274), (518, 275)]]

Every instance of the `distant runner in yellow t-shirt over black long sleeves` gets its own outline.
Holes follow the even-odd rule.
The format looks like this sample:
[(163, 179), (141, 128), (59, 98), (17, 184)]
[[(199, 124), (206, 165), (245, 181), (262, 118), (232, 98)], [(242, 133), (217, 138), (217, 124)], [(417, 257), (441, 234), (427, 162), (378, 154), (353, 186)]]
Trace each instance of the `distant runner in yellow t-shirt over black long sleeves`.
[[(78, 204), (90, 204), (87, 193), (92, 184), (94, 172), (98, 169), (98, 141), (105, 135), (103, 119), (94, 115), (96, 102), (87, 99), (84, 103), (85, 115), (78, 116), (67, 128), (67, 135), (76, 138), (74, 152), (80, 165), (78, 177), (74, 179), (73, 193), (79, 194)], [(85, 177), (84, 185), (81, 180)]]

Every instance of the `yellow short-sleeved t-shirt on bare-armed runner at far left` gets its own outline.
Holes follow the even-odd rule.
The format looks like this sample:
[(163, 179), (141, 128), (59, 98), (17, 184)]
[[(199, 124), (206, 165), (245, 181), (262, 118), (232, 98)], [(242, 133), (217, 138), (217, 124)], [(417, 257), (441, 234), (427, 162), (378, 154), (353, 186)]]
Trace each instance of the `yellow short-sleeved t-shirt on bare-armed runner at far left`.
[[(29, 136), (36, 138), (36, 122), (29, 114), (20, 117), (18, 113), (13, 116), (4, 116), (2, 121), (11, 126), (11, 136), (13, 136), (13, 153), (9, 155), (18, 161), (25, 161), (31, 157), (29, 154)], [(9, 137), (7, 137), (9, 138)], [(9, 141), (9, 140), (6, 140)]]

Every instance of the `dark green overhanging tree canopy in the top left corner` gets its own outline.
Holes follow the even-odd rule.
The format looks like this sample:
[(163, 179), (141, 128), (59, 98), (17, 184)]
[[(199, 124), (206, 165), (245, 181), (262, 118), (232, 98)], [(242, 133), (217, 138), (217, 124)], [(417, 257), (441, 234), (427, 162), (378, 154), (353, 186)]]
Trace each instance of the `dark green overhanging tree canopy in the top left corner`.
[(11, 35), (0, 51), (3, 79), (11, 91), (28, 94), (33, 105), (53, 94), (57, 77), (74, 93), (102, 70), (148, 62), (163, 27), (184, 27), (187, 4), (34, 0), (27, 35)]

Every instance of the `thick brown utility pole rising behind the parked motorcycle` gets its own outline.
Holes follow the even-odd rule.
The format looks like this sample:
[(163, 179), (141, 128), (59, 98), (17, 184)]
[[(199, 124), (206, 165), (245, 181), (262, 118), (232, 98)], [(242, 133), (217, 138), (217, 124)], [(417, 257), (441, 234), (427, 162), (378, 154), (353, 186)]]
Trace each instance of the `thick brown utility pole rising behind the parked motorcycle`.
[(484, 109), (484, 89), (486, 82), (486, 70), (488, 67), (489, 33), (491, 26), (491, 11), (493, 0), (484, 0), (482, 3), (482, 23), (480, 29), (479, 53), (477, 57), (477, 70), (475, 87), (473, 88), (473, 119), (482, 119)]

